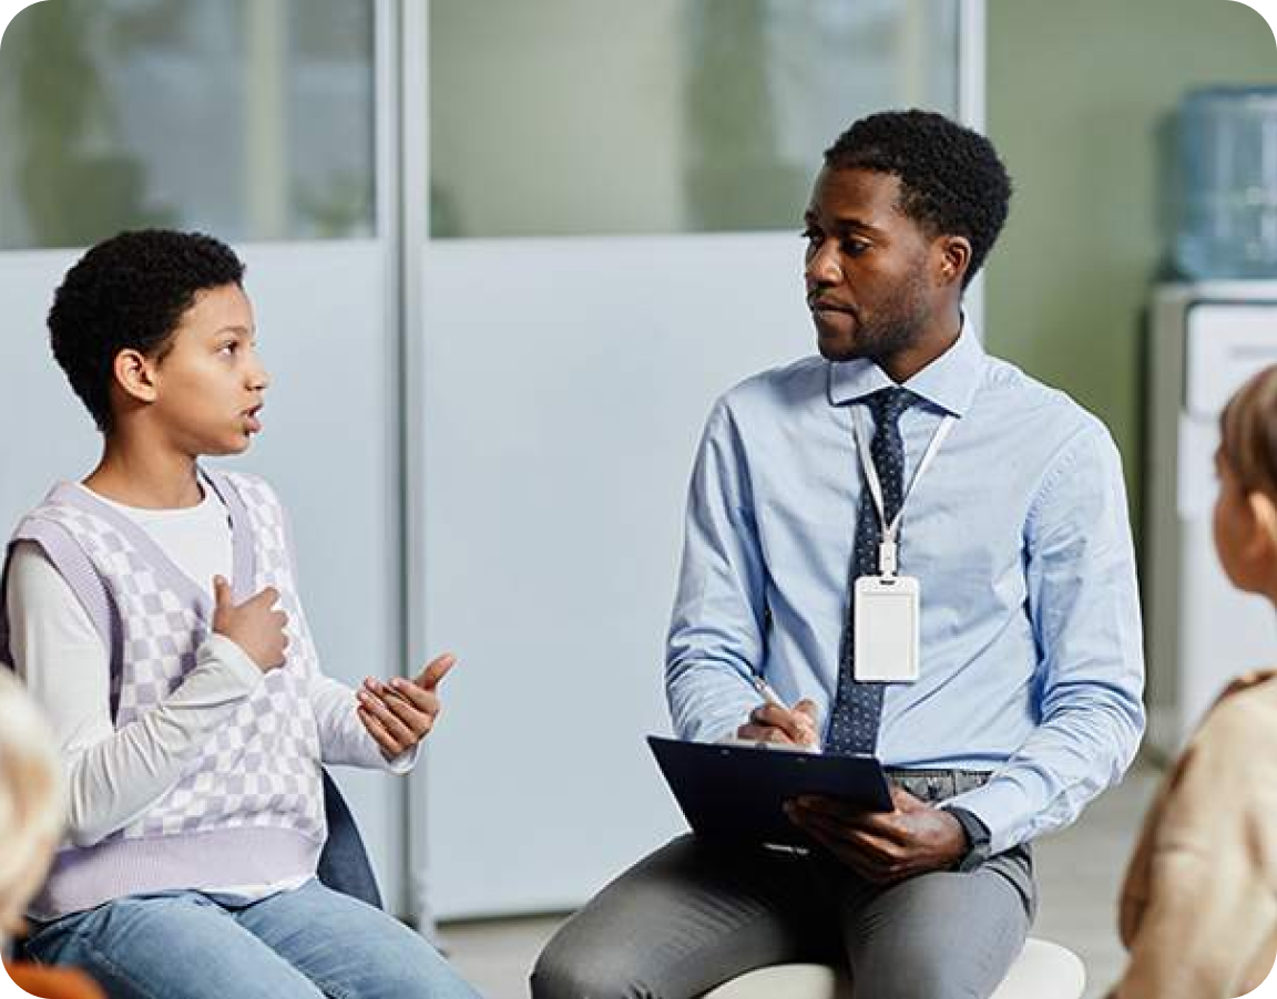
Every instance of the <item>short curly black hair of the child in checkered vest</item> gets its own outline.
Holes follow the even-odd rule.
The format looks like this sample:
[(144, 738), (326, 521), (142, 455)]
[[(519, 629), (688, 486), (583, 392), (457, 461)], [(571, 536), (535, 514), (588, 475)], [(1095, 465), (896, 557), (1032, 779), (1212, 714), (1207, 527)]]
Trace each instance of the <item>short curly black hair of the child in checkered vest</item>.
[(50, 343), (98, 430), (115, 427), (116, 355), (135, 350), (162, 359), (199, 292), (243, 281), (244, 263), (226, 244), (171, 230), (121, 232), (66, 272), (49, 310)]

